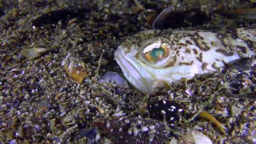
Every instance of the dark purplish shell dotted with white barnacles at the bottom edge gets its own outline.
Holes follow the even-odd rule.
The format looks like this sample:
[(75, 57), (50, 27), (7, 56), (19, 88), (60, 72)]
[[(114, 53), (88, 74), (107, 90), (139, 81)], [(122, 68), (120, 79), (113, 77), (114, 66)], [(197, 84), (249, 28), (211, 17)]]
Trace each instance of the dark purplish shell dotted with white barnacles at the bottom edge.
[[(144, 126), (148, 128), (148, 131), (141, 130)], [(163, 123), (144, 118), (109, 117), (91, 123), (91, 127), (101, 129), (108, 139), (118, 144), (149, 142), (162, 144), (171, 136), (165, 131)]]

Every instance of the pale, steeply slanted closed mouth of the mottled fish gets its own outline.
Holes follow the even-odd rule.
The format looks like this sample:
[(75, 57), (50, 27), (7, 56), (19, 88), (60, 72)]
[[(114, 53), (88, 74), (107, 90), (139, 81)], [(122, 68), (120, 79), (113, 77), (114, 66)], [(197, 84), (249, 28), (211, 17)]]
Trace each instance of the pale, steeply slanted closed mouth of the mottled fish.
[(125, 56), (123, 47), (120, 45), (114, 53), (117, 64), (123, 71), (128, 82), (142, 93), (153, 93), (152, 83), (146, 79), (144, 72), (133, 59)]

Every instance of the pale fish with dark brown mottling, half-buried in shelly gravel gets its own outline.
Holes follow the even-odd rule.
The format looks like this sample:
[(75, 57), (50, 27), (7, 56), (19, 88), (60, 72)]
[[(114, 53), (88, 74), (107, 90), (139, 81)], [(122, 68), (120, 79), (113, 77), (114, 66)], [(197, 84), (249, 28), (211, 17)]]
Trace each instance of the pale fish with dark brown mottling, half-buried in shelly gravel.
[[(164, 47), (164, 56), (149, 61), (148, 53), (160, 47)], [(134, 88), (152, 93), (155, 80), (179, 81), (216, 71), (225, 64), (251, 58), (255, 48), (256, 29), (146, 30), (118, 46), (115, 59)]]

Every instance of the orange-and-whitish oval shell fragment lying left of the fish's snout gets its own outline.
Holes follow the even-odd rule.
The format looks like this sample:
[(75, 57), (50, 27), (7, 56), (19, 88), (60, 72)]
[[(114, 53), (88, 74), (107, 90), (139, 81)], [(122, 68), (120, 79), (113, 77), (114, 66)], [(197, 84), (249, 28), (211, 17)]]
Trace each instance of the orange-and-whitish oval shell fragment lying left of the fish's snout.
[(64, 67), (64, 70), (76, 83), (82, 83), (88, 76), (84, 62), (78, 57), (72, 56), (71, 53), (67, 54), (65, 59), (61, 62), (61, 66)]

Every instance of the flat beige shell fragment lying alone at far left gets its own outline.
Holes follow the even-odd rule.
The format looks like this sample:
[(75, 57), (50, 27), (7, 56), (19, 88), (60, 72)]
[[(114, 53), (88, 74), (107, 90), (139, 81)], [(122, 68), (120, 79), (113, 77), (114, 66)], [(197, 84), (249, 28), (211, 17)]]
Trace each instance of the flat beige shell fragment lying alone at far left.
[(20, 54), (28, 59), (35, 59), (47, 51), (46, 48), (27, 48), (20, 52)]

